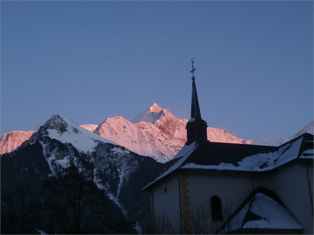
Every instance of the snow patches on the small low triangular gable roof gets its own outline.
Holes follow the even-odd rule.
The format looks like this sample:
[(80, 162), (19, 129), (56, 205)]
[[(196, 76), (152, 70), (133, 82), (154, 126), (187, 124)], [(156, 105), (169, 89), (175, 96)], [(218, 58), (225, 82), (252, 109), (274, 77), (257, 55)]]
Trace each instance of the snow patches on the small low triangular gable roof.
[(283, 204), (257, 193), (229, 220), (222, 233), (238, 229), (302, 230), (303, 227)]

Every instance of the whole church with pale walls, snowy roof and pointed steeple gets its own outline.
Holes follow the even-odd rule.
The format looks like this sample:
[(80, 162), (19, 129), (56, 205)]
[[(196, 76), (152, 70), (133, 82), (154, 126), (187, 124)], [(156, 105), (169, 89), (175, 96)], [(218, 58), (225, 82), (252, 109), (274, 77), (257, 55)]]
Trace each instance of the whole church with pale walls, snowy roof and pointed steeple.
[(142, 189), (152, 234), (314, 233), (313, 135), (258, 146), (210, 142), (206, 128), (193, 73), (186, 143)]

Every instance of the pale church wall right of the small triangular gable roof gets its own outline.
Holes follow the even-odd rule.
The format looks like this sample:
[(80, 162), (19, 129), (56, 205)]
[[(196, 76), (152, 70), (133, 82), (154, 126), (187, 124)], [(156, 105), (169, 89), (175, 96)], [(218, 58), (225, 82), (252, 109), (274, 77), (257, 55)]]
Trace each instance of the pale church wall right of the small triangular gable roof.
[(263, 186), (274, 191), (302, 224), (304, 234), (313, 234), (310, 194), (310, 189), (313, 192), (313, 166), (309, 170), (310, 189), (307, 168), (306, 164), (295, 161), (269, 173), (255, 174), (254, 187)]

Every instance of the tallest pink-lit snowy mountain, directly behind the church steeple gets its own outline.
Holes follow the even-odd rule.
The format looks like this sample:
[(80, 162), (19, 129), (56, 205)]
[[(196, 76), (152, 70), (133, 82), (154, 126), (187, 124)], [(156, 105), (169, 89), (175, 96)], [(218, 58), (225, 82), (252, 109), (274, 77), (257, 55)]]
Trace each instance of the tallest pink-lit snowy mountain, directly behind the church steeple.
[[(165, 162), (174, 157), (186, 141), (187, 119), (176, 118), (167, 109), (154, 103), (129, 121), (123, 117), (107, 118), (94, 133), (114, 141), (131, 151)], [(213, 142), (248, 143), (228, 132), (208, 127), (208, 137)]]

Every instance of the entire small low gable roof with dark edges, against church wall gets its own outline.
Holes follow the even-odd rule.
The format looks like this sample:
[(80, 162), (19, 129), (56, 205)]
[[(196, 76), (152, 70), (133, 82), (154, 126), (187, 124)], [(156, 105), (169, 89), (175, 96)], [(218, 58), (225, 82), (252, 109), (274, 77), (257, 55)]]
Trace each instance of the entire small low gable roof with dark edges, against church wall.
[(303, 227), (275, 193), (261, 187), (241, 203), (220, 234), (265, 234), (265, 230), (270, 234), (299, 234)]

